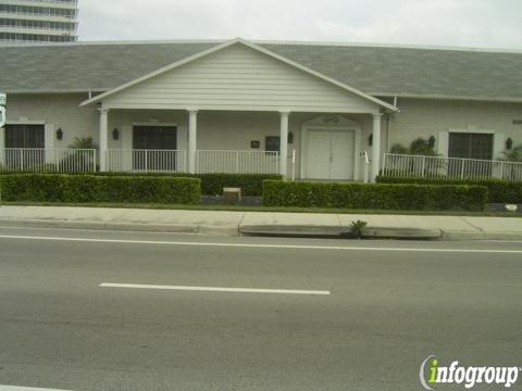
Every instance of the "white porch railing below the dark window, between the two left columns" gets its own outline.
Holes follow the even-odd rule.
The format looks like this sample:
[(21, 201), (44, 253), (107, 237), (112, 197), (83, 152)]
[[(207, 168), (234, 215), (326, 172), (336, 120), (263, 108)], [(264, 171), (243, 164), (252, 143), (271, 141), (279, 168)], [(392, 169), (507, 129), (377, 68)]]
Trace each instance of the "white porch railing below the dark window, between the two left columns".
[(115, 173), (185, 173), (186, 155), (181, 150), (107, 150), (107, 171)]

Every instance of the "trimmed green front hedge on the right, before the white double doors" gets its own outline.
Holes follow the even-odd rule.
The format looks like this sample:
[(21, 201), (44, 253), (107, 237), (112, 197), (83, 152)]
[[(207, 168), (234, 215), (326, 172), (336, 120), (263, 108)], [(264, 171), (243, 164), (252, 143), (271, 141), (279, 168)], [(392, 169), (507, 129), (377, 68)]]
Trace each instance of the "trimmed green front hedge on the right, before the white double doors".
[(389, 211), (484, 211), (487, 188), (265, 180), (263, 205)]

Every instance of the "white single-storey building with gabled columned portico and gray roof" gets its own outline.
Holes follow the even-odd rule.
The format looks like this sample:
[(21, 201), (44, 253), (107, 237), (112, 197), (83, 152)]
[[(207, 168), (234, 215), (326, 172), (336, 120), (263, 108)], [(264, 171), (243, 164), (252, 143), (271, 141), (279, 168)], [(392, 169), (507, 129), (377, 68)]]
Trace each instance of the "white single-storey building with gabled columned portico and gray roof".
[[(102, 171), (362, 180), (419, 137), (470, 162), (522, 144), (520, 52), (235, 39), (8, 46), (0, 56), (0, 151), (45, 150), (48, 164), (91, 137)], [(504, 163), (467, 162), (445, 169), (505, 177)]]

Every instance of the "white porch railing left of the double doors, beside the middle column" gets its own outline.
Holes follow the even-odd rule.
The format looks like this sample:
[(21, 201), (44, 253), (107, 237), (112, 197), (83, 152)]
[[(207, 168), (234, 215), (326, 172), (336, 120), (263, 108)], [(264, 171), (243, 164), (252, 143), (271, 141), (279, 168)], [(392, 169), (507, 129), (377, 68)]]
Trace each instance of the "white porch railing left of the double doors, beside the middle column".
[(198, 174), (277, 174), (279, 153), (270, 151), (198, 150)]

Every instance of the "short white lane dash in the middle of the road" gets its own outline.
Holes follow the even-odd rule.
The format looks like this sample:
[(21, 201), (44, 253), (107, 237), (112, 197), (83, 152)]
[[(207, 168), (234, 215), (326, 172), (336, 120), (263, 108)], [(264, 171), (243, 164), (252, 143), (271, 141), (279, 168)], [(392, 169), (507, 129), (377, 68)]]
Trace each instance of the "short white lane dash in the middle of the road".
[(156, 289), (156, 290), (178, 290), (196, 292), (232, 292), (232, 293), (272, 293), (272, 294), (313, 294), (330, 295), (330, 291), (320, 290), (287, 290), (287, 289), (249, 289), (249, 288), (216, 288), (216, 287), (182, 287), (182, 286), (156, 286), (139, 283), (100, 283), (102, 288), (127, 288), (127, 289)]

